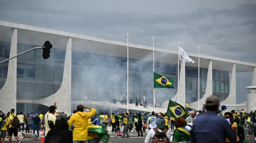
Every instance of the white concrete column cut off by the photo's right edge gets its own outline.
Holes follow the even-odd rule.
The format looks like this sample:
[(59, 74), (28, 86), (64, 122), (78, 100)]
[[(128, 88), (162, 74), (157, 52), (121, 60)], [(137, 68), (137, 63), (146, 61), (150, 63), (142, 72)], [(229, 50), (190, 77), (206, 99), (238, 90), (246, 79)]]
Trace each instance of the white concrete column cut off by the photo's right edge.
[[(256, 67), (254, 67), (252, 74), (251, 86), (256, 85)], [(254, 111), (256, 109), (256, 90), (251, 90), (250, 94), (247, 94), (247, 112)]]

